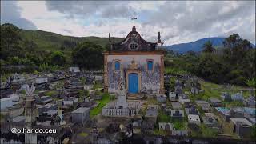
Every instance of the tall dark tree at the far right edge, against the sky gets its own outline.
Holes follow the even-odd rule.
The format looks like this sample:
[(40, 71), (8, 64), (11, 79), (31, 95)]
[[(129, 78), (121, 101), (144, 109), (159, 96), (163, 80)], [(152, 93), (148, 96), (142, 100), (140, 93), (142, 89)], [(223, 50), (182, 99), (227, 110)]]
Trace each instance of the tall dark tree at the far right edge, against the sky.
[(222, 63), (229, 67), (230, 72), (226, 74), (229, 82), (245, 85), (246, 79), (255, 77), (255, 49), (246, 39), (240, 38), (238, 34), (231, 34), (225, 38)]

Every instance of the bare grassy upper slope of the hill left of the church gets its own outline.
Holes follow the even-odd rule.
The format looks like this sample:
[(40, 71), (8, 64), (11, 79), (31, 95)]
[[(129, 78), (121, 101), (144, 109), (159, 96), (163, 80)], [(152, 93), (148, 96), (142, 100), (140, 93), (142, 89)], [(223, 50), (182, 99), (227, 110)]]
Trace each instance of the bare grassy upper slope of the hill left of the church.
[[(42, 30), (21, 30), (22, 40), (33, 41), (38, 50), (59, 50), (64, 48), (70, 50), (79, 42), (94, 42), (100, 46), (106, 46), (108, 38), (100, 37), (71, 37)], [(114, 38), (115, 42), (122, 41), (122, 38)]]

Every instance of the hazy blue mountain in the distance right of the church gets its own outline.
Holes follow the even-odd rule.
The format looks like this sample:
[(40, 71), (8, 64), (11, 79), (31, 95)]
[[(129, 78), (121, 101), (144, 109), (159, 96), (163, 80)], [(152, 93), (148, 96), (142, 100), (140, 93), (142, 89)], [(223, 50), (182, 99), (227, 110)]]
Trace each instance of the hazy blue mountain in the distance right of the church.
[[(194, 52), (202, 51), (203, 45), (207, 41), (212, 42), (212, 44), (215, 48), (222, 47), (224, 40), (225, 40), (225, 38), (220, 38), (220, 37), (202, 38), (202, 39), (198, 39), (197, 41), (194, 41), (194, 42), (180, 43), (180, 44), (165, 46), (165, 47), (167, 50), (174, 50), (174, 52), (184, 54), (187, 51), (194, 51)], [(255, 48), (255, 46), (253, 44), (251, 44), (251, 45)]]

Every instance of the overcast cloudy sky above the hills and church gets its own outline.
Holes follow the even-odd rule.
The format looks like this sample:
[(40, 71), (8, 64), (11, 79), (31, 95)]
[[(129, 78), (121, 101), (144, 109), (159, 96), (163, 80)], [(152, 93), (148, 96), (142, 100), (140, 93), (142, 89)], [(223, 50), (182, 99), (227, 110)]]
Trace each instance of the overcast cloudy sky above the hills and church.
[(135, 16), (137, 31), (165, 45), (238, 33), (255, 44), (254, 1), (1, 1), (1, 24), (70, 36), (126, 37)]

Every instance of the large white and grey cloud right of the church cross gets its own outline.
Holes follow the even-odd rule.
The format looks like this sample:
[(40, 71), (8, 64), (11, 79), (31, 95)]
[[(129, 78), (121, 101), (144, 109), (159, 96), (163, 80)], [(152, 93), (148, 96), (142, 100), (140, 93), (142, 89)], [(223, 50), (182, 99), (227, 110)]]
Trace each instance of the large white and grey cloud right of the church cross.
[[(242, 34), (255, 42), (255, 2), (166, 2), (161, 10), (150, 15), (143, 26), (172, 28), (171, 35), (190, 41), (199, 38), (232, 33)], [(252, 18), (254, 17), (254, 18)], [(198, 34), (198, 36), (193, 36)], [(167, 38), (174, 38), (167, 35)], [(171, 42), (175, 42), (169, 39)], [(167, 40), (168, 41), (168, 40)]]

